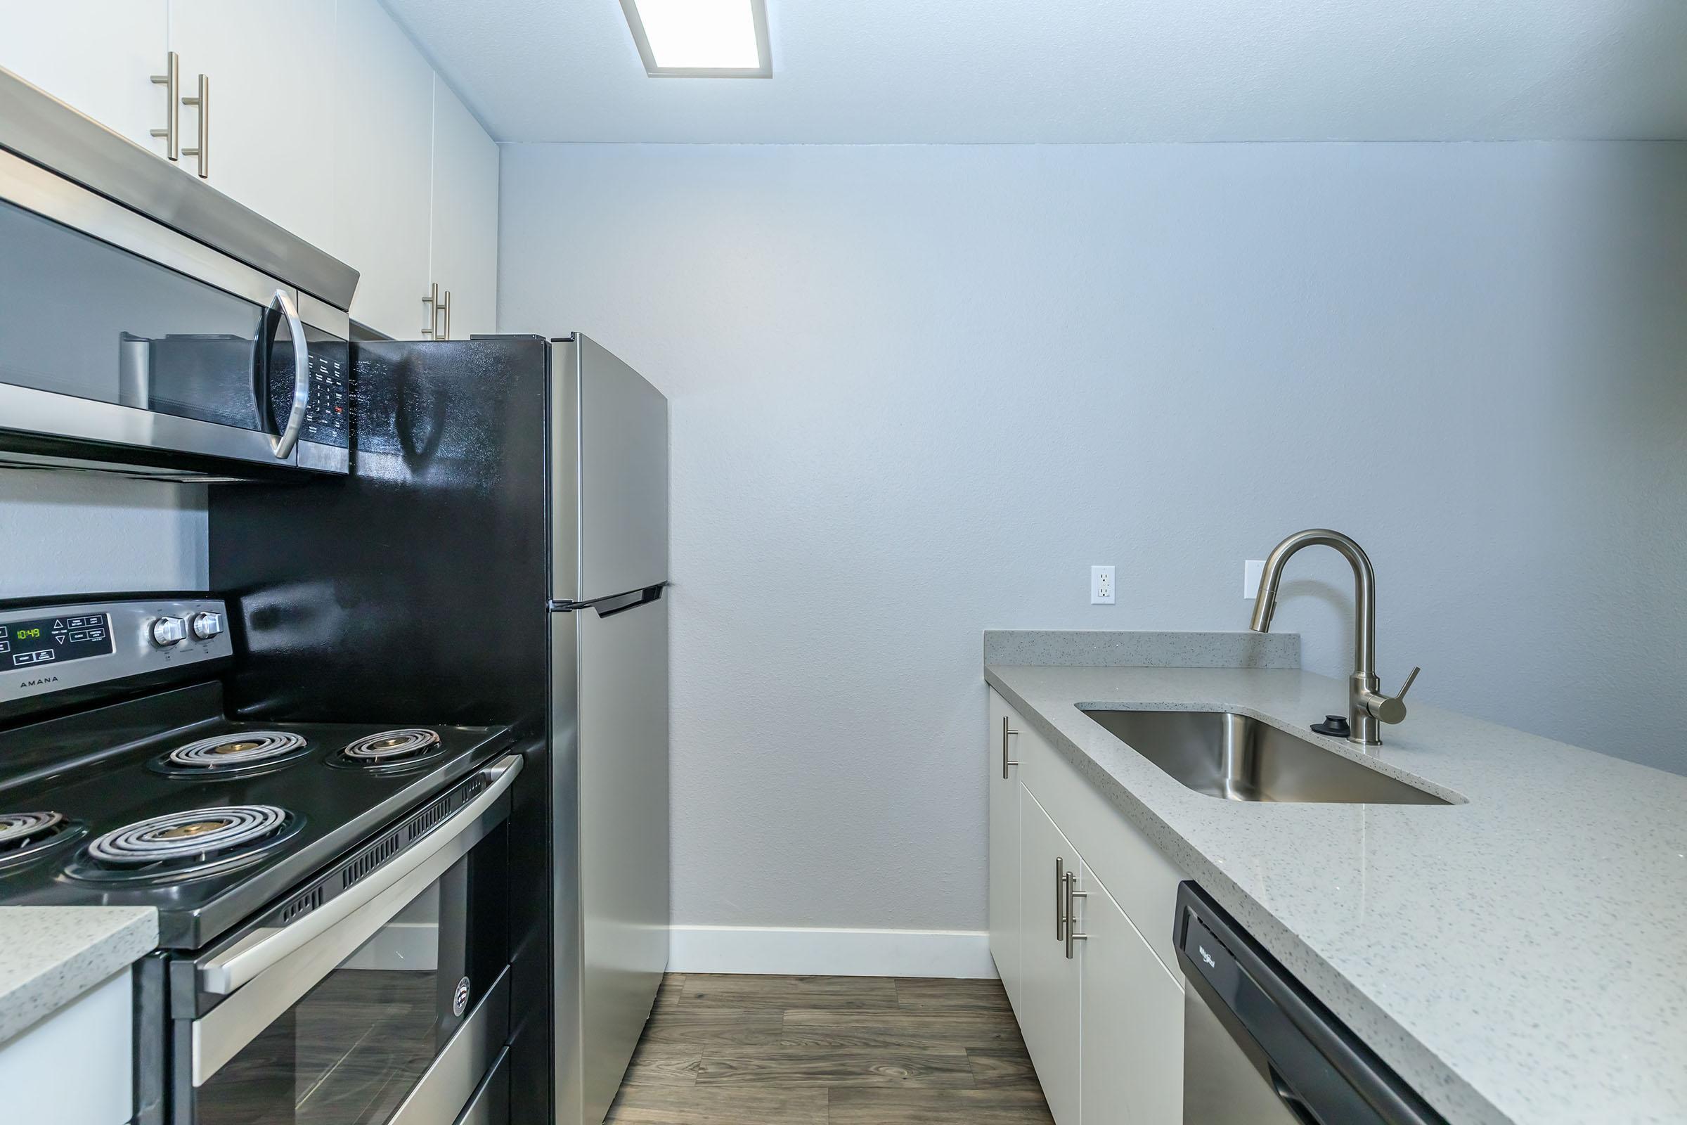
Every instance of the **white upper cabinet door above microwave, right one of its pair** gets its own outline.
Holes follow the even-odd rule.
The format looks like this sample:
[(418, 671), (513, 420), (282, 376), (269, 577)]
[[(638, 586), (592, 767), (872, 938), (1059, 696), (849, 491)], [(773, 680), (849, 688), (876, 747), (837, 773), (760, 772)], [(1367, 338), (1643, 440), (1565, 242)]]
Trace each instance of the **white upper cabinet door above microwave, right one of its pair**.
[[(206, 182), (277, 226), (334, 241), (337, 57), (334, 0), (170, 0), (181, 93), (209, 81), (208, 106), (181, 106), (192, 148), (206, 113)], [(184, 170), (199, 160), (184, 155)]]

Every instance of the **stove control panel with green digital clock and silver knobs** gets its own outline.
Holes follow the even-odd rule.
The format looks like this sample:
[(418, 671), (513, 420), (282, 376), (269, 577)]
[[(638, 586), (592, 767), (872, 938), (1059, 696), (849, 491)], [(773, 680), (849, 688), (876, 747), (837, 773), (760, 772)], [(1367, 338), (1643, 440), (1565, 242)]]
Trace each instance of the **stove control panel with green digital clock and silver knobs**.
[(0, 609), (0, 705), (234, 654), (221, 599)]

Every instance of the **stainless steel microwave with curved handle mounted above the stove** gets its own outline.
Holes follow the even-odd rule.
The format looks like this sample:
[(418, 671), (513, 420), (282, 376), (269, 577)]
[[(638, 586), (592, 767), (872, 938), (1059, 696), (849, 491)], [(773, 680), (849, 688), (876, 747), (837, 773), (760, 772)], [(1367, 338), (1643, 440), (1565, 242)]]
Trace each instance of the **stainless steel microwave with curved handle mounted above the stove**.
[(346, 472), (337, 309), (8, 153), (0, 246), (0, 460)]

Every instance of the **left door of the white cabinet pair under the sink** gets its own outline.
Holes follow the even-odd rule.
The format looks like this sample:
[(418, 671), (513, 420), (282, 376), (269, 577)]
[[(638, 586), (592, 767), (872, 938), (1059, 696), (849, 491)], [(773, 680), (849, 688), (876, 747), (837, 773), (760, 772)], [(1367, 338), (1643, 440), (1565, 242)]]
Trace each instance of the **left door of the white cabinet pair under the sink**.
[[(1078, 1125), (1078, 961), (1056, 938), (1061, 891), (1054, 860), (1076, 870), (1066, 842), (1031, 791), (1019, 786), (1019, 1029), (1056, 1125)], [(1081, 945), (1081, 943), (1080, 943)]]

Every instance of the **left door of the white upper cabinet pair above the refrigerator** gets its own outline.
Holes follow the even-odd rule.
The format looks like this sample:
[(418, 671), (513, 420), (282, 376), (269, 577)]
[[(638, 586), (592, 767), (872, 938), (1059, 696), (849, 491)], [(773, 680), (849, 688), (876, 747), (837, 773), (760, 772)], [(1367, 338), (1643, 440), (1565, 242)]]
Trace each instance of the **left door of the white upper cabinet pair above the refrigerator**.
[(339, 0), (336, 236), (356, 268), (354, 320), (422, 339), (428, 282), (434, 71), (376, 0)]

